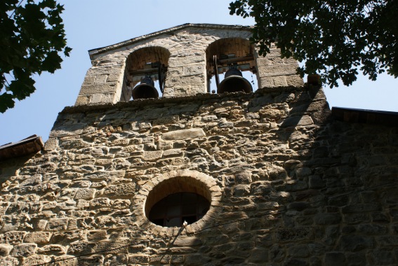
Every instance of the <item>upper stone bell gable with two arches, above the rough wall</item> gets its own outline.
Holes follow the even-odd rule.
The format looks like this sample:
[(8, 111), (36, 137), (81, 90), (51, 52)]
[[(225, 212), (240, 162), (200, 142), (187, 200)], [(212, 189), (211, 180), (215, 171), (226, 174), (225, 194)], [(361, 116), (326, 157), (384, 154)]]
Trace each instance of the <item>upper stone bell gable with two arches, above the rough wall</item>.
[(164, 98), (204, 94), (212, 76), (218, 82), (215, 71), (228, 66), (255, 73), (258, 87), (303, 85), (295, 60), (280, 59), (276, 48), (259, 57), (250, 36), (250, 27), (185, 24), (91, 50), (76, 105), (128, 102), (147, 76), (158, 80)]

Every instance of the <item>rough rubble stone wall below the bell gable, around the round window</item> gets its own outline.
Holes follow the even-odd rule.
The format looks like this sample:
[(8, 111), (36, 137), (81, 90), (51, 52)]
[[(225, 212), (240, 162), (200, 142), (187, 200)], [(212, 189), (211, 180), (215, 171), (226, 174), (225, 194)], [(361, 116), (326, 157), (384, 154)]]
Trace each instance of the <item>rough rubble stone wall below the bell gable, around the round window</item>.
[[(1, 265), (398, 262), (398, 129), (331, 120), (319, 87), (68, 107), (0, 169)], [(154, 225), (146, 197), (175, 178), (211, 208)]]

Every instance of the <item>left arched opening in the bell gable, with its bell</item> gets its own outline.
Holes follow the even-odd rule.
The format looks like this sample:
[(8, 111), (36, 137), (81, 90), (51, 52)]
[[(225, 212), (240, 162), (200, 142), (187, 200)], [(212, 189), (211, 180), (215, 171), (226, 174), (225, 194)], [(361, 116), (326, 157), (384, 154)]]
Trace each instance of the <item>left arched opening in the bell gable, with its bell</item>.
[(140, 48), (127, 57), (124, 92), (127, 99), (159, 98), (164, 91), (170, 52), (159, 46)]

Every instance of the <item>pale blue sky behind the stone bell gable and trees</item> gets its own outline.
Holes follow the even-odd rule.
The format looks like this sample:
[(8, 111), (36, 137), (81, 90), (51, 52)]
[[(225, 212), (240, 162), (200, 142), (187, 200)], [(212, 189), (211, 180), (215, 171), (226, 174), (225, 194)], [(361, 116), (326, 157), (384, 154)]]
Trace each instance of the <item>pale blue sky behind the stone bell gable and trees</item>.
[[(91, 62), (88, 50), (150, 34), (185, 23), (253, 25), (251, 18), (229, 14), (231, 0), (69, 0), (62, 13), (71, 56), (54, 74), (37, 76), (37, 91), (0, 113), (0, 145), (32, 134), (48, 139), (65, 106), (73, 106)], [(398, 111), (398, 79), (379, 76), (376, 82), (359, 76), (350, 87), (324, 88), (330, 106)]]

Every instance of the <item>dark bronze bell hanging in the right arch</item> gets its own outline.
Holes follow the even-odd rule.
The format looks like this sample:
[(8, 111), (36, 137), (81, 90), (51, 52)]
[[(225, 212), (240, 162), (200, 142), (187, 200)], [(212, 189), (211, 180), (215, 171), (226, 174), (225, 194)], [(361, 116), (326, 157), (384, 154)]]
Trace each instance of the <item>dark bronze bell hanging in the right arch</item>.
[(239, 69), (228, 69), (225, 78), (218, 85), (217, 93), (224, 92), (253, 92), (250, 82), (242, 76)]

